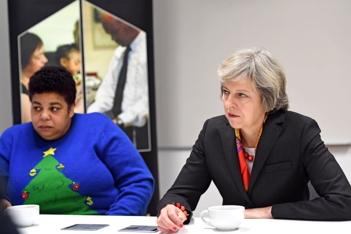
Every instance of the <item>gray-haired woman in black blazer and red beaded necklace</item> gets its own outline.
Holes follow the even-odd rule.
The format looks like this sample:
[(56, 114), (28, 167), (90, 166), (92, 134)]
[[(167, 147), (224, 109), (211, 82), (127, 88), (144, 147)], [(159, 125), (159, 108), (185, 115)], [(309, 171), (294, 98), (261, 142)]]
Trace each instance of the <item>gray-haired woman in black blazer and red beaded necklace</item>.
[[(245, 207), (245, 218), (351, 220), (350, 183), (318, 124), (288, 111), (278, 59), (264, 49), (242, 49), (221, 63), (218, 76), (225, 115), (204, 123), (158, 204), (158, 230), (189, 223), (211, 181), (223, 205)], [(319, 195), (313, 200), (309, 181)]]

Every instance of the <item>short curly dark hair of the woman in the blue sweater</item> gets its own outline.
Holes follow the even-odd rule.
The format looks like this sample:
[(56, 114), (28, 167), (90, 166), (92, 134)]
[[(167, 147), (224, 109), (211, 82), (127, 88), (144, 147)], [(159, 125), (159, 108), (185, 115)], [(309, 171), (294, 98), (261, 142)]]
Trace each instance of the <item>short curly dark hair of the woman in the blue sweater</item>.
[(62, 67), (43, 67), (29, 79), (29, 99), (42, 93), (57, 93), (61, 95), (70, 108), (76, 99), (76, 83), (70, 72)]

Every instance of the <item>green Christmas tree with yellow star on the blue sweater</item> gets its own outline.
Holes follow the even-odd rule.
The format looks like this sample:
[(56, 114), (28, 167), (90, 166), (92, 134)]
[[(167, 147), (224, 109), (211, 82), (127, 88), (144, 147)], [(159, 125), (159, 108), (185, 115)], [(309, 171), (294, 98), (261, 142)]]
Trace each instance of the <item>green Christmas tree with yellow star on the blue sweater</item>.
[(89, 208), (91, 197), (79, 195), (79, 183), (62, 173), (64, 165), (53, 156), (55, 150), (45, 151), (43, 159), (29, 172), (33, 179), (22, 191), (23, 204), (40, 205), (40, 214), (98, 215)]

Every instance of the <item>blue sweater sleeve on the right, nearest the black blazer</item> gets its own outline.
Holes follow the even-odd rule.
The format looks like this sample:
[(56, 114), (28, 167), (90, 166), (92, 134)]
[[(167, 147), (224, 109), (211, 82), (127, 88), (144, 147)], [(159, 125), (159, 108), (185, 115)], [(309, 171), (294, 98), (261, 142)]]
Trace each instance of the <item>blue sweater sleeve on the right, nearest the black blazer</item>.
[(102, 137), (101, 160), (110, 170), (119, 194), (106, 215), (145, 215), (154, 193), (155, 181), (143, 158), (112, 121)]

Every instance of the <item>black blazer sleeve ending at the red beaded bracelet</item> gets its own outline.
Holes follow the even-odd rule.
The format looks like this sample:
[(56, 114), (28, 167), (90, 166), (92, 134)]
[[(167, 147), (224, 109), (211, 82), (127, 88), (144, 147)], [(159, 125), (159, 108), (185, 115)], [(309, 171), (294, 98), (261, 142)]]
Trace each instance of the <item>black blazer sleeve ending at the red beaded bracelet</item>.
[(176, 181), (158, 203), (158, 214), (163, 207), (173, 202), (185, 206), (189, 216), (184, 222), (189, 223), (192, 211), (195, 210), (200, 196), (206, 192), (211, 184), (211, 176), (207, 170), (206, 156), (204, 154), (204, 136), (208, 120), (203, 125), (193, 150), (185, 165), (176, 178)]

